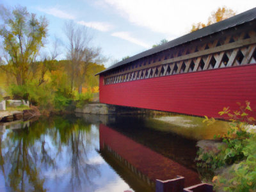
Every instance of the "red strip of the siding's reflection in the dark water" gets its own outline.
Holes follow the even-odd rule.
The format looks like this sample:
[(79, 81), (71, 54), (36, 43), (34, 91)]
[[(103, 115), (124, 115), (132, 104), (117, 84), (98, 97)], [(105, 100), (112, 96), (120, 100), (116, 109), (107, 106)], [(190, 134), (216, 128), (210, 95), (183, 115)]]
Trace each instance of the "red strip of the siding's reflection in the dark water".
[(99, 134), (100, 150), (107, 145), (152, 181), (174, 179), (177, 175), (182, 175), (186, 178), (185, 186), (192, 186), (200, 182), (198, 173), (136, 143), (106, 125), (100, 124)]

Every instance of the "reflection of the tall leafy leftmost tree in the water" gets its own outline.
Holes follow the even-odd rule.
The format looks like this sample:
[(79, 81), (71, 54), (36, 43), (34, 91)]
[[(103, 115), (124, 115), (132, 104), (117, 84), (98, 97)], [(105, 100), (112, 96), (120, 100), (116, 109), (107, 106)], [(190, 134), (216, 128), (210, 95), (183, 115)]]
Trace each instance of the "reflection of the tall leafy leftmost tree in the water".
[(31, 131), (29, 128), (8, 132), (3, 141), (6, 147), (4, 154), (7, 185), (12, 191), (46, 191), (44, 179), (40, 178), (37, 168), (39, 131)]

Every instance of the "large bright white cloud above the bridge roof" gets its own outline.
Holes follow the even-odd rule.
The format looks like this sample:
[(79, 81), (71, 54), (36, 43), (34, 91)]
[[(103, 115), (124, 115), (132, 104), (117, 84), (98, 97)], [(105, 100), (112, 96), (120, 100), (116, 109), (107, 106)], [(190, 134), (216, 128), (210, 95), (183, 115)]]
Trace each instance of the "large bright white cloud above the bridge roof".
[[(99, 2), (99, 1), (98, 1)], [(227, 6), (237, 13), (256, 6), (255, 0), (100, 0), (132, 24), (169, 35), (182, 35), (196, 22), (206, 22), (211, 12)], [(98, 3), (98, 4), (100, 4)]]

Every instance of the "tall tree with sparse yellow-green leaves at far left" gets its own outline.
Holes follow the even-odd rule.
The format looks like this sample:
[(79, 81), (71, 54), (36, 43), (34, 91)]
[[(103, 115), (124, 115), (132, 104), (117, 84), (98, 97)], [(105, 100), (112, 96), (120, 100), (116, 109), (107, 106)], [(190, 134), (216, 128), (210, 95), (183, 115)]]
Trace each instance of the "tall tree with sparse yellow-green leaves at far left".
[(0, 26), (4, 63), (8, 65), (1, 65), (1, 68), (12, 74), (18, 85), (24, 85), (29, 79), (31, 65), (35, 62), (40, 47), (44, 46), (48, 22), (45, 17), (37, 19), (35, 13), (29, 13), (22, 6), (16, 6), (11, 11), (0, 6), (0, 17), (4, 23)]

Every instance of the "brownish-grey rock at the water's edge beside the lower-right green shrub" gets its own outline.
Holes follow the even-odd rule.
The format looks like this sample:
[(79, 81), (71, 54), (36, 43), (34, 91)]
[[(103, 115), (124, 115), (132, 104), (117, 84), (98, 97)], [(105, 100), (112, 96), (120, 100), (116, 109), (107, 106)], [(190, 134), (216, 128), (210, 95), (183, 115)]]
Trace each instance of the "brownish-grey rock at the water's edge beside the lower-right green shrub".
[(200, 140), (196, 143), (196, 147), (202, 148), (205, 153), (213, 152), (218, 154), (220, 148), (227, 147), (227, 144), (220, 140)]

